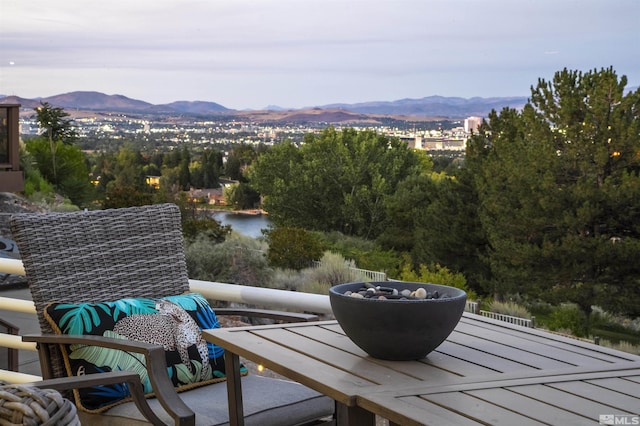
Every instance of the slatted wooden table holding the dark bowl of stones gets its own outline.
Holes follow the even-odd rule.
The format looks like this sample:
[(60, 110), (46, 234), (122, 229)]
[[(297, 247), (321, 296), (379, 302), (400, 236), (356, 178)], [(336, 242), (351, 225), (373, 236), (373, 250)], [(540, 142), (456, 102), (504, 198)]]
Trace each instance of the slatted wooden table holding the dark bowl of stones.
[[(478, 391), (486, 388), (499, 394), (504, 386), (498, 386), (498, 381), (535, 384), (579, 374), (612, 374), (614, 378), (619, 370), (640, 369), (639, 356), (468, 313), (442, 345), (418, 361), (372, 358), (335, 321), (205, 330), (204, 336), (226, 350), (228, 365), (239, 365), (243, 357), (333, 398), (338, 423), (343, 424), (373, 424), (374, 414), (399, 424), (426, 423), (420, 416), (441, 407), (434, 401), (412, 408), (419, 415), (402, 413), (409, 402), (422, 400), (418, 395), (425, 391), (435, 390), (434, 398), (447, 390), (449, 396), (467, 397), (455, 386), (480, 386)], [(567, 383), (573, 383), (571, 380)], [(230, 375), (227, 386), (231, 422), (241, 425), (239, 374)], [(466, 406), (464, 399), (462, 406)], [(458, 409), (439, 410), (453, 413)], [(460, 416), (466, 418), (462, 412)], [(503, 424), (510, 418), (505, 414)]]

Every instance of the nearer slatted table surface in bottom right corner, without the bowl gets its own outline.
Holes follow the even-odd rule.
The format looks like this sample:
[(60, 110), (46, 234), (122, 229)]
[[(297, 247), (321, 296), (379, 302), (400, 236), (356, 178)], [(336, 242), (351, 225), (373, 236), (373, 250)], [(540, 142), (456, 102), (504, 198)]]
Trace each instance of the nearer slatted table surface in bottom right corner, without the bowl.
[(599, 424), (601, 416), (607, 414), (625, 422), (615, 424), (638, 424), (640, 369), (542, 374), (440, 387), (409, 386), (359, 396), (357, 404), (407, 426), (582, 426)]

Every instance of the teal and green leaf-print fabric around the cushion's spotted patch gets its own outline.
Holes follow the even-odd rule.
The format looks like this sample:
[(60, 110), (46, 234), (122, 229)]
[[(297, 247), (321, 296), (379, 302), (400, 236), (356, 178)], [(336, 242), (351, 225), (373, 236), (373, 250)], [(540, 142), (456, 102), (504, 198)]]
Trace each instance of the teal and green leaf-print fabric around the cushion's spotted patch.
[[(203, 329), (220, 327), (215, 312), (201, 294), (189, 293), (158, 300), (172, 302), (186, 311), (197, 324), (198, 333)], [(158, 300), (129, 298), (99, 303), (52, 303), (45, 309), (45, 317), (53, 329), (60, 334), (98, 335), (127, 339), (126, 336), (113, 331), (118, 321), (134, 315), (162, 315), (156, 309)], [(140, 319), (144, 321), (147, 318), (141, 317)], [(151, 319), (153, 318), (149, 317), (149, 320)], [(128, 318), (127, 323), (129, 322)], [(150, 336), (145, 335), (145, 333), (149, 333), (149, 328), (141, 326), (140, 330), (133, 330), (133, 333), (135, 336), (138, 336), (139, 333), (139, 338), (133, 339), (130, 336), (132, 340), (154, 341), (147, 340)], [(155, 337), (160, 339), (175, 338), (170, 332), (163, 332)], [(202, 341), (201, 336), (198, 338)], [(189, 344), (191, 344), (190, 341)], [(206, 368), (203, 368), (205, 363), (203, 363), (201, 353), (204, 351), (204, 346), (200, 351), (196, 344), (187, 348), (189, 365), (183, 363), (184, 357), (181, 357), (178, 349), (168, 350), (165, 346), (167, 372), (176, 390), (191, 389), (194, 386), (225, 380), (224, 350), (211, 343), (207, 343), (206, 347), (208, 362)], [(141, 354), (98, 346), (68, 345), (63, 350), (63, 356), (69, 375), (135, 371), (140, 375), (145, 393), (153, 393), (145, 358)], [(241, 366), (241, 374), (247, 374), (247, 369), (244, 366)], [(79, 389), (74, 393), (78, 408), (89, 412), (101, 412), (116, 404), (131, 400), (126, 385), (122, 384)]]

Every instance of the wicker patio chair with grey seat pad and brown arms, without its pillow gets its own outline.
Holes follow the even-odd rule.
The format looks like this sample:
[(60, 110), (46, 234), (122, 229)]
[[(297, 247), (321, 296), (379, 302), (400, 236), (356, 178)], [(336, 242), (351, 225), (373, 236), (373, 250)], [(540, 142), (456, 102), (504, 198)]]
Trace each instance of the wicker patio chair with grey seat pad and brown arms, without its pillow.
[[(39, 387), (77, 389), (96, 383), (128, 383), (133, 401), (106, 412), (83, 413), (86, 424), (228, 424), (226, 384), (176, 392), (162, 346), (102, 336), (60, 335), (45, 318), (51, 302), (98, 303), (123, 298), (161, 298), (189, 291), (180, 211), (173, 204), (73, 213), (17, 214), (11, 231), (18, 244), (40, 323)], [(216, 314), (222, 312), (216, 309)], [(284, 319), (280, 313), (270, 311)], [(310, 316), (291, 315), (292, 321)], [(100, 345), (143, 354), (155, 398), (145, 398), (131, 371), (69, 377), (62, 345)], [(249, 374), (242, 378), (245, 423), (333, 423), (334, 402), (298, 383)]]

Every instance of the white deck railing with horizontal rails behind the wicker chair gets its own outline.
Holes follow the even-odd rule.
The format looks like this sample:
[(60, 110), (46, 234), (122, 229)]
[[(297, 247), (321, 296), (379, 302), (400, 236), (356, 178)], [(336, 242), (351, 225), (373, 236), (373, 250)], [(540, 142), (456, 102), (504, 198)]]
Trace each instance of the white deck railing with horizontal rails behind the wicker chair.
[[(20, 260), (0, 258), (0, 273), (24, 275)], [(331, 314), (329, 296), (302, 293), (297, 291), (270, 288), (249, 287), (218, 282), (189, 280), (190, 288), (202, 294), (206, 299), (258, 305), (264, 308)], [(36, 314), (36, 308), (30, 300), (0, 297), (0, 310)], [(25, 343), (19, 335), (0, 333), (0, 347), (35, 351), (35, 343)], [(27, 383), (41, 380), (41, 377), (0, 369), (0, 380), (9, 383)]]

